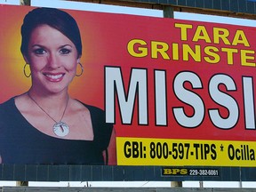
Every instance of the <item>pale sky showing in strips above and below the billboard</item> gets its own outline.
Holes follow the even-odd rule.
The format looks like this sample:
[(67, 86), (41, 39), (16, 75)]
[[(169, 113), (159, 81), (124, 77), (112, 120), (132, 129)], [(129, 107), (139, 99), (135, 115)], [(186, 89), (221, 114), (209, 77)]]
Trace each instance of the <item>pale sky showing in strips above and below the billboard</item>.
[[(256, 1), (256, 0), (255, 0)], [(20, 4), (20, 0), (0, 0), (0, 4)], [(56, 7), (64, 9), (84, 10), (92, 12), (114, 12), (124, 14), (134, 14), (150, 17), (163, 17), (163, 12), (159, 10), (148, 10), (140, 8), (131, 8), (124, 6), (114, 6), (105, 4), (89, 4), (89, 3), (78, 3), (68, 2), (62, 0), (31, 0), (32, 6), (44, 6), (44, 7)], [(198, 20), (206, 22), (216, 22), (233, 24), (240, 26), (256, 27), (256, 20), (244, 20), (227, 18), (212, 15), (201, 15), (195, 13), (186, 12), (174, 12), (174, 18), (180, 20)], [(0, 181), (0, 186), (15, 186), (15, 181)], [(47, 187), (135, 187), (135, 188), (155, 188), (155, 187), (171, 187), (171, 182), (156, 182), (156, 181), (134, 181), (134, 182), (29, 182), (29, 186), (47, 186)], [(183, 187), (188, 188), (199, 188), (199, 181), (185, 181)], [(204, 188), (256, 188), (254, 182), (218, 182), (218, 181), (204, 181)]]

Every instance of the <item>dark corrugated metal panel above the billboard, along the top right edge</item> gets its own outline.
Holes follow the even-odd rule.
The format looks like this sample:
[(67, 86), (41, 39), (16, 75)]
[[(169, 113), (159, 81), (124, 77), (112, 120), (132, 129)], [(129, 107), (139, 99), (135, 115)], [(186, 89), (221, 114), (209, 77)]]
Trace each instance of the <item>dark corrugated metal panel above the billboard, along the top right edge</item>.
[(256, 19), (254, 0), (69, 0), (95, 4), (116, 4), (150, 9), (173, 6), (176, 11)]

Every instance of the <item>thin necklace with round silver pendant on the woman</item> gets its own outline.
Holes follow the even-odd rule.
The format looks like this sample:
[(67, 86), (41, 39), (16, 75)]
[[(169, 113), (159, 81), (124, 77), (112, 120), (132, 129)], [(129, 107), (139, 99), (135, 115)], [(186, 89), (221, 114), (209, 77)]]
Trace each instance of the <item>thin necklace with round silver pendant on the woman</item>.
[(52, 118), (52, 116), (50, 116), (45, 110), (44, 108), (42, 108), (37, 102), (36, 100), (34, 100), (34, 98), (31, 97), (31, 95), (28, 93), (28, 97), (33, 100), (35, 103), (36, 103), (36, 106), (38, 108), (40, 108), (42, 111), (44, 111), (44, 113), (49, 116), (54, 122), (55, 124), (53, 124), (52, 126), (52, 131), (54, 132), (55, 135), (59, 136), (59, 137), (65, 137), (66, 135), (68, 135), (68, 132), (69, 132), (69, 127), (68, 127), (68, 124), (62, 122), (62, 118), (63, 116), (65, 115), (65, 112), (66, 112), (66, 109), (68, 107), (68, 100), (69, 100), (69, 97), (68, 97), (68, 100), (67, 100), (67, 103), (66, 103), (66, 107), (63, 111), (63, 114), (60, 118), (60, 121), (57, 122), (54, 118)]

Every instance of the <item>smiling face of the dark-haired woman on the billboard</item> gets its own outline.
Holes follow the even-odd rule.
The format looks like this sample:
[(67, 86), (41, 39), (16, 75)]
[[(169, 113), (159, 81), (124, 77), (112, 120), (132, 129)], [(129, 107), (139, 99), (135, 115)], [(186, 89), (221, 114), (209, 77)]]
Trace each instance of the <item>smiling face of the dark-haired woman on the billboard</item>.
[(32, 89), (44, 93), (67, 91), (79, 62), (75, 44), (48, 25), (32, 31), (25, 60), (30, 65)]

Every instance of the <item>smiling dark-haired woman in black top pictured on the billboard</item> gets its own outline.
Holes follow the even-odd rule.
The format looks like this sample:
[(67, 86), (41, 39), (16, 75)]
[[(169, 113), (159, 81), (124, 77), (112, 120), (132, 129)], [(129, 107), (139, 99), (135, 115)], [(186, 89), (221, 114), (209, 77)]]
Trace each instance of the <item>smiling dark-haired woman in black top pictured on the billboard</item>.
[(84, 71), (76, 20), (37, 8), (24, 18), (21, 36), (24, 75), (32, 84), (0, 105), (2, 163), (116, 164), (115, 132), (104, 111), (68, 94)]

